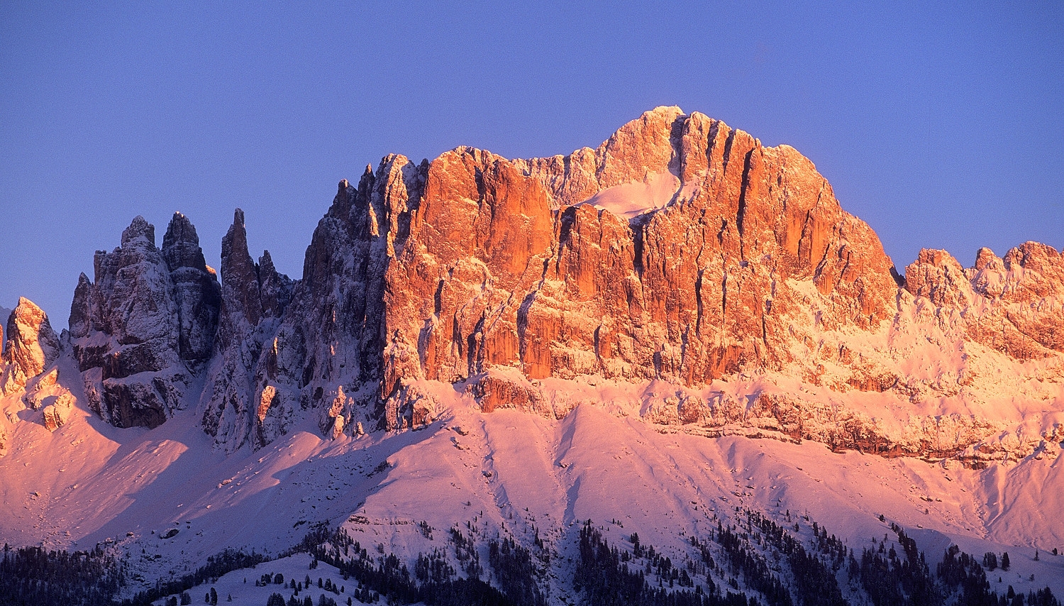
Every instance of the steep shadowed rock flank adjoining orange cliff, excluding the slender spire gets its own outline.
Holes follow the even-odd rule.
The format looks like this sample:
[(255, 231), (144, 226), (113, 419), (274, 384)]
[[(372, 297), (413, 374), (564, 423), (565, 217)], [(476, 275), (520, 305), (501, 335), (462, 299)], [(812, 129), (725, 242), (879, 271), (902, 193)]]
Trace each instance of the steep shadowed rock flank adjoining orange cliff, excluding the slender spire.
[[(394, 368), (410, 357), (382, 356), (393, 347), (385, 320), (390, 313), (386, 276), (390, 259), (410, 234), (427, 169), (428, 163), (414, 165), (388, 155), (376, 173), (367, 167), (358, 186), (340, 181), (329, 212), (314, 231), (303, 279), (273, 348), (260, 363), (256, 389), (276, 387), (279, 420), (290, 416), (297, 405), (331, 409), (335, 398), (330, 394), (343, 388), (361, 411), (345, 417), (345, 427), (370, 420), (401, 426), (399, 415), (385, 412), (396, 383), (382, 382), (382, 377), (398, 379), (385, 365)], [(416, 360), (416, 349), (410, 354)], [(280, 423), (272, 427), (283, 429)]]

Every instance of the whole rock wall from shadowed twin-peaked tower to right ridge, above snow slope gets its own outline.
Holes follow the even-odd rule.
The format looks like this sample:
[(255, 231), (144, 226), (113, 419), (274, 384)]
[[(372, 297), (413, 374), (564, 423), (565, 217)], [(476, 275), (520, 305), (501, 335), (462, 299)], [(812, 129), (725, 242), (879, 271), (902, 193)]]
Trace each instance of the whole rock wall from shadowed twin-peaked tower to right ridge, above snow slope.
[(387, 155), (339, 182), (300, 280), (252, 261), (244, 223), (220, 285), (180, 214), (162, 251), (138, 217), (97, 255), (70, 331), (104, 419), (157, 425), (202, 372), (200, 423), (232, 452), (305, 415), (418, 426), (425, 381), (562, 416), (583, 396), (556, 381), (594, 377), (711, 436), (976, 463), (1057, 436), (994, 404), (1064, 396), (1055, 249), (969, 269), (925, 250), (901, 276), (808, 159), (702, 114), (658, 108), (564, 157)]

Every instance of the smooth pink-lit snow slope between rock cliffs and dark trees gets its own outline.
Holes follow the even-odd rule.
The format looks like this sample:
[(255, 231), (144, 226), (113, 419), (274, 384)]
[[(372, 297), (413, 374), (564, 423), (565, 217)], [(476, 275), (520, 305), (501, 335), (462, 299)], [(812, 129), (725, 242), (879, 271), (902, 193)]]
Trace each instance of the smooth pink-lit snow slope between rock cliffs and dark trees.
[(498, 537), (532, 545), (538, 536), (556, 553), (552, 595), (575, 599), (567, 558), (576, 557), (583, 521), (618, 544), (637, 533), (681, 561), (691, 537), (735, 523), (742, 508), (799, 521), (805, 539), (807, 520), (818, 520), (858, 553), (891, 522), (932, 564), (951, 543), (974, 554), (1008, 551), (1013, 570), (1002, 593), (1008, 585), (1064, 593), (1064, 556), (1048, 553), (1064, 545), (1059, 459), (971, 470), (833, 453), (811, 441), (708, 439), (639, 419), (637, 394), (626, 402), (618, 396), (631, 388), (613, 382), (575, 383), (575, 392), (615, 397), (581, 404), (563, 420), (484, 413), (450, 384), (420, 388), (438, 404), (438, 419), (423, 429), (331, 440), (307, 423), (228, 457), (210, 447), (190, 411), (152, 430), (116, 429), (84, 409), (55, 432), (20, 423), (13, 452), (0, 459), (3, 539), (115, 543), (150, 585), (226, 547), (277, 555), (322, 522), (413, 568), (419, 553), (450, 553), (449, 529), (460, 527), (480, 548)]

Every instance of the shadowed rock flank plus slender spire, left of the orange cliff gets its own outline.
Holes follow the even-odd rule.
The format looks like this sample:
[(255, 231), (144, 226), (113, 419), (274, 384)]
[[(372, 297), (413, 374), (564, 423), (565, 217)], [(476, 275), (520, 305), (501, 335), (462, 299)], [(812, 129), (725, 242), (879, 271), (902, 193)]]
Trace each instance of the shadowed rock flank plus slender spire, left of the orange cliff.
[[(336, 436), (364, 423), (396, 427), (415, 417), (386, 414), (381, 397), (384, 291), (427, 167), (389, 155), (376, 173), (367, 167), (356, 186), (340, 181), (295, 283), (272, 271), (268, 256), (257, 281), (251, 279), (238, 214), (240, 227), (234, 224), (223, 242), (220, 362), (203, 407), (203, 427), (219, 446), (269, 443), (309, 408), (319, 409), (322, 430)], [(261, 320), (252, 324), (256, 313)]]

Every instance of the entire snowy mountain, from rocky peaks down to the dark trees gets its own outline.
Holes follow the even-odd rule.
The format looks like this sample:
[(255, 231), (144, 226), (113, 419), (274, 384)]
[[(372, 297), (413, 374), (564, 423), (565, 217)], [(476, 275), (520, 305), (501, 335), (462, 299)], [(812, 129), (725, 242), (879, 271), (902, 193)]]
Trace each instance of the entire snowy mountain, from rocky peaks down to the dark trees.
[[(769, 523), (827, 561), (819, 521), (857, 555), (884, 533), (932, 562), (1011, 547), (991, 590), (1064, 593), (1050, 246), (969, 268), (922, 250), (902, 275), (798, 151), (658, 108), (564, 157), (385, 157), (339, 182), (298, 280), (252, 260), (238, 209), (221, 248), (219, 280), (187, 217), (161, 248), (136, 217), (79, 279), (69, 333), (19, 301), (5, 540), (100, 542), (147, 587), (339, 529), (314, 536), (410, 570), (436, 554), (511, 597), (513, 540), (571, 603), (595, 540), (637, 534), (695, 574), (729, 528), (795, 553)], [(699, 590), (772, 603), (775, 574), (802, 601), (804, 564), (735, 566)], [(876, 600), (839, 570), (842, 600)]]

